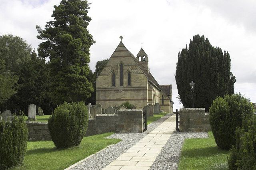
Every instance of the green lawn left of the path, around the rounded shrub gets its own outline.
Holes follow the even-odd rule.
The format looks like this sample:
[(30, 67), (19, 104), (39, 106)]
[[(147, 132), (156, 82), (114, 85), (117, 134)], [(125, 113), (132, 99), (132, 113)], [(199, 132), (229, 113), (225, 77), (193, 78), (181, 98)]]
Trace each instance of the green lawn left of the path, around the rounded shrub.
[(79, 146), (57, 149), (52, 141), (28, 142), (22, 166), (12, 170), (63, 170), (120, 139), (106, 139), (112, 132), (84, 137)]

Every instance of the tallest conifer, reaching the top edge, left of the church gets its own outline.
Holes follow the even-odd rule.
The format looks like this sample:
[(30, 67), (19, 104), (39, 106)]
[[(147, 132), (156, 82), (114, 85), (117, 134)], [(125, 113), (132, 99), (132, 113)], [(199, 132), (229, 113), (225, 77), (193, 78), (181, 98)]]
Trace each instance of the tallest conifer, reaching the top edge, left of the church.
[(95, 41), (87, 26), (89, 4), (82, 0), (62, 0), (54, 6), (52, 17), (45, 29), (36, 26), (40, 40), (38, 55), (49, 57), (50, 90), (54, 105), (63, 101), (82, 101), (90, 97), (92, 83), (87, 79), (90, 71), (89, 48)]

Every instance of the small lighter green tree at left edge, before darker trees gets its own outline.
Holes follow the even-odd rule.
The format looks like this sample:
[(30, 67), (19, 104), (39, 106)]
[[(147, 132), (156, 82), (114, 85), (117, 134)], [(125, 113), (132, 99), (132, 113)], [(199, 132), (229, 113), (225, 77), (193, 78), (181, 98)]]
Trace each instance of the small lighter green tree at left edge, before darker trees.
[(0, 59), (0, 105), (17, 92), (17, 82), (18, 77), (7, 71), (5, 61)]

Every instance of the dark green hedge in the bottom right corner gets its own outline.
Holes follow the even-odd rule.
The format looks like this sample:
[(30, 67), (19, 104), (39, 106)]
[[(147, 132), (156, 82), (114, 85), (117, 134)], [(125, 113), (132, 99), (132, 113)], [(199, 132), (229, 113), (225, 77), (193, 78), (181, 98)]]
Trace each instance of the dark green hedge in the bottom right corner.
[(229, 169), (256, 169), (256, 116), (248, 117), (236, 130), (236, 146), (228, 158)]

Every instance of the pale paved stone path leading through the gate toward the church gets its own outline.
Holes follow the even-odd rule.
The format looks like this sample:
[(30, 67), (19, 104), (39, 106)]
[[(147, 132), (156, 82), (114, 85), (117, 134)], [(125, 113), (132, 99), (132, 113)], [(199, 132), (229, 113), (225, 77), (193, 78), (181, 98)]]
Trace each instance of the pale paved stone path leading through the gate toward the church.
[(176, 128), (172, 115), (103, 170), (148, 170)]

